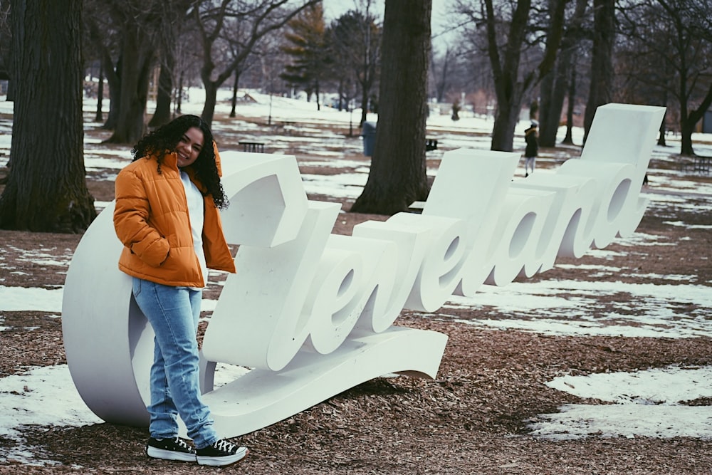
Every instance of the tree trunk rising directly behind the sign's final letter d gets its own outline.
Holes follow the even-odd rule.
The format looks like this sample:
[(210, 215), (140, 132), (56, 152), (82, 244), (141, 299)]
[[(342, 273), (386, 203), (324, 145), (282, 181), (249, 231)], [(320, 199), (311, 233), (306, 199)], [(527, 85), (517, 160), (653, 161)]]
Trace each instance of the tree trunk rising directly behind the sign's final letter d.
[(613, 43), (615, 39), (615, 1), (593, 0), (593, 51), (591, 56), (591, 89), (584, 115), (586, 142), (593, 116), (599, 105), (611, 102), (613, 93)]

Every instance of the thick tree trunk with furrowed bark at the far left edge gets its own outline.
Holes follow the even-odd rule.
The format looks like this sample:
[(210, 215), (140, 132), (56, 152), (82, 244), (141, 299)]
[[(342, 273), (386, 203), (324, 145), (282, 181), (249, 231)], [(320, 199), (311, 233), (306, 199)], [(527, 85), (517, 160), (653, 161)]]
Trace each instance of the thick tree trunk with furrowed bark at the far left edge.
[(82, 1), (14, 0), (12, 167), (0, 227), (71, 232), (96, 216), (85, 182)]

